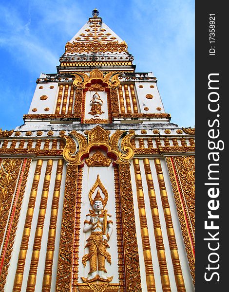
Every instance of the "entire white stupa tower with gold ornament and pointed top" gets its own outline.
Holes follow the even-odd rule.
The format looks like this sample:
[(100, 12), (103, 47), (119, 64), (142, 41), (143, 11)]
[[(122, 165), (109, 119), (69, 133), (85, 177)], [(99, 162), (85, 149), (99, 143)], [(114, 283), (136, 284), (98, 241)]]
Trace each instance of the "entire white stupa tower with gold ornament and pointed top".
[(94, 9), (0, 130), (0, 291), (194, 291), (194, 128), (133, 60)]

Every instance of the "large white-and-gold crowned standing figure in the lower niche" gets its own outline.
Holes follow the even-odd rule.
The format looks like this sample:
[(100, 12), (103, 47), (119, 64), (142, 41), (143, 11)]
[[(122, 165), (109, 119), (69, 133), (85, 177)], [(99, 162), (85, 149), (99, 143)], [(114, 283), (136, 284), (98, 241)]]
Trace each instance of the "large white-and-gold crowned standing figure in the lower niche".
[(111, 264), (111, 255), (107, 252), (107, 248), (109, 248), (107, 242), (113, 231), (111, 215), (107, 214), (107, 210), (104, 210), (106, 201), (106, 198), (103, 200), (99, 190), (97, 190), (93, 200), (93, 210), (90, 210), (90, 214), (84, 221), (83, 232), (91, 231), (85, 246), (88, 247), (89, 253), (82, 258), (84, 267), (88, 260), (90, 262), (89, 276), (87, 278), (82, 277), (82, 280), (86, 283), (95, 280), (110, 282), (113, 278), (113, 276), (107, 277), (105, 269), (105, 260)]

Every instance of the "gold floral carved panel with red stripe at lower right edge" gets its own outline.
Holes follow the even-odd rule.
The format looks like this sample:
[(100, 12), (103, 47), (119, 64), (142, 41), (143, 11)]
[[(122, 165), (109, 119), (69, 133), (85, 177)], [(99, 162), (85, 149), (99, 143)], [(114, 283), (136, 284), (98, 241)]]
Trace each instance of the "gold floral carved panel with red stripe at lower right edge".
[(193, 282), (195, 282), (194, 156), (170, 156), (166, 157), (166, 162), (189, 260), (191, 276)]

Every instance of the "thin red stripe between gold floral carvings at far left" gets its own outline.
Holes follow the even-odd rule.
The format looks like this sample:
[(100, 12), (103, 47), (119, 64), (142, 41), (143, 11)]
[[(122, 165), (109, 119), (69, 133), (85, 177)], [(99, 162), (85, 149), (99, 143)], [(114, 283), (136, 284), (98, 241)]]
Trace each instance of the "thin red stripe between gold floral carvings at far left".
[(16, 194), (16, 200), (15, 200), (15, 204), (13, 206), (12, 213), (11, 213), (11, 220), (8, 223), (9, 229), (8, 229), (8, 234), (5, 237), (6, 238), (5, 239), (5, 246), (4, 246), (4, 251), (3, 251), (2, 259), (1, 259), (1, 263), (0, 263), (0, 274), (1, 274), (3, 264), (4, 264), (6, 249), (8, 246), (8, 241), (10, 238), (10, 233), (11, 233), (11, 229), (12, 229), (12, 225), (13, 225), (13, 221), (14, 221), (14, 215), (15, 215), (15, 211), (16, 211), (16, 207), (17, 207), (17, 203), (18, 203), (18, 199), (19, 199), (20, 187), (21, 187), (21, 183), (22, 183), (22, 179), (23, 179), (23, 175), (24, 175), (24, 171), (25, 171), (26, 162), (27, 162), (27, 158), (24, 159), (24, 163), (23, 163), (22, 168), (21, 168), (21, 173), (20, 173), (20, 178), (19, 178), (19, 183), (18, 183), (18, 191)]

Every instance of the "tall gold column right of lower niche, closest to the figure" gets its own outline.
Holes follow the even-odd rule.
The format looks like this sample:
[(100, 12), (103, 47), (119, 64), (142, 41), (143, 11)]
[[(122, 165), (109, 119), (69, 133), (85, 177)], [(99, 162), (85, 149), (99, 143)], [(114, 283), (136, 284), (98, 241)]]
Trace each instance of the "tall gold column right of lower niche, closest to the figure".
[(147, 291), (156, 291), (155, 280), (153, 275), (153, 262), (151, 255), (150, 239), (146, 219), (146, 207), (144, 200), (144, 193), (142, 187), (141, 171), (139, 160), (134, 158), (134, 173), (135, 173), (135, 182), (137, 188), (137, 202), (138, 202), (138, 212), (140, 218), (141, 226), (141, 237), (142, 237), (142, 246), (143, 246), (143, 256), (145, 262), (146, 270), (146, 284)]

